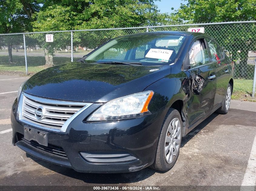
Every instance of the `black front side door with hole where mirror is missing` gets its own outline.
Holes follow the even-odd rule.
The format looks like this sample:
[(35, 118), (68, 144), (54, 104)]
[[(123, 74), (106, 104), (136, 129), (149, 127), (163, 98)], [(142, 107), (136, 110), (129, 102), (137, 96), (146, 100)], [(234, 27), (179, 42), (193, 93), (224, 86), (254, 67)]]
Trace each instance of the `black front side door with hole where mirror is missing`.
[(188, 53), (191, 67), (188, 122), (191, 126), (214, 107), (216, 64), (211, 63), (209, 59), (209, 50), (204, 38), (195, 40)]

